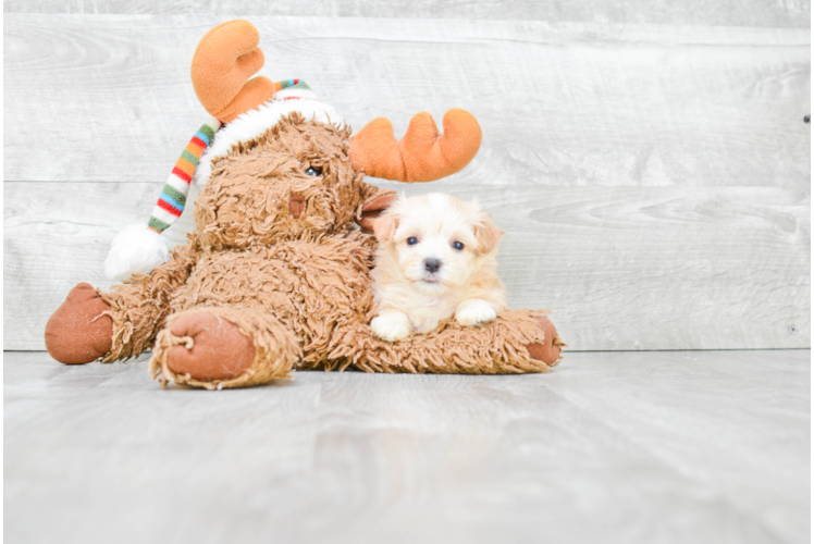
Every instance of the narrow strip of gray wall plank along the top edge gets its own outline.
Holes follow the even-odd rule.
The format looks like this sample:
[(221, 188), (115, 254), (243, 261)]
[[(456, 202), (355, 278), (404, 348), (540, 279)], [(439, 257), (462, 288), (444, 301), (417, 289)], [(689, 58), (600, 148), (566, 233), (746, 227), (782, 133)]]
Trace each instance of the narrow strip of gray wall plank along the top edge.
[(811, 27), (814, 16), (811, 4), (805, 0), (5, 0), (3, 13), (187, 13), (223, 16), (318, 14), (335, 17), (583, 21), (757, 27)]

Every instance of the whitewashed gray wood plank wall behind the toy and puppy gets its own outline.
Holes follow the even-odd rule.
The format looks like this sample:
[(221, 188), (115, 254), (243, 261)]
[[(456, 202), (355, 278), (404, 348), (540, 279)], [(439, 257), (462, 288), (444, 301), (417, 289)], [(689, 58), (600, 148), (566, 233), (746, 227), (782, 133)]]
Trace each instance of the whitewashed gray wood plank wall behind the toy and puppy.
[(109, 285), (108, 243), (146, 221), (205, 118), (195, 46), (240, 15), (264, 75), (306, 79), (356, 129), (452, 107), (478, 118), (465, 171), (379, 185), (477, 196), (508, 233), (511, 306), (555, 310), (574, 349), (812, 346), (803, 0), (11, 0), (3, 349), (42, 349), (71, 286)]

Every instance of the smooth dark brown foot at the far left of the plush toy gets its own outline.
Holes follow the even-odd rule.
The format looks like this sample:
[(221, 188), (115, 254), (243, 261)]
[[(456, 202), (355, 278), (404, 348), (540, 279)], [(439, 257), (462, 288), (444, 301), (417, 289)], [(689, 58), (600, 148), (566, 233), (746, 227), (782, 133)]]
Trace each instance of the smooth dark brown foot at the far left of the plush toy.
[(85, 364), (104, 357), (113, 345), (110, 306), (87, 283), (67, 294), (46, 325), (48, 353), (65, 364)]

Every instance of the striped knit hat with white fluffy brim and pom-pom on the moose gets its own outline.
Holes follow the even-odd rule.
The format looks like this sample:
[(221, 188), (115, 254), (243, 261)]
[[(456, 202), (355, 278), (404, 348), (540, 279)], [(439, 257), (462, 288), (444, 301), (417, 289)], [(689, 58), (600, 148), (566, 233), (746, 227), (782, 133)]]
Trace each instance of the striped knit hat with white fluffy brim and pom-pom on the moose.
[(147, 225), (126, 226), (113, 238), (104, 261), (108, 277), (123, 280), (133, 274), (149, 274), (169, 260), (170, 249), (161, 233), (181, 218), (190, 183), (206, 184), (212, 160), (225, 156), (234, 145), (257, 138), (294, 111), (323, 123), (338, 122), (334, 109), (321, 102), (305, 82), (288, 79), (274, 85), (272, 100), (242, 113), (226, 125), (212, 116), (195, 133), (172, 169)]

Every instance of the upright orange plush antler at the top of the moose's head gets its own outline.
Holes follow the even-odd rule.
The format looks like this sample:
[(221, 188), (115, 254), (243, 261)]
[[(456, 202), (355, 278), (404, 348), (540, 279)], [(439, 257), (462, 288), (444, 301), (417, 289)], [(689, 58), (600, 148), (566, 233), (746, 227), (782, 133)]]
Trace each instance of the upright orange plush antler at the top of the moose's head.
[(193, 86), (203, 108), (224, 123), (270, 100), (273, 82), (255, 77), (263, 65), (260, 34), (248, 21), (229, 21), (209, 30), (193, 57)]

